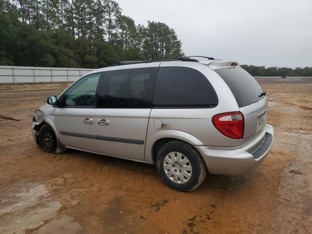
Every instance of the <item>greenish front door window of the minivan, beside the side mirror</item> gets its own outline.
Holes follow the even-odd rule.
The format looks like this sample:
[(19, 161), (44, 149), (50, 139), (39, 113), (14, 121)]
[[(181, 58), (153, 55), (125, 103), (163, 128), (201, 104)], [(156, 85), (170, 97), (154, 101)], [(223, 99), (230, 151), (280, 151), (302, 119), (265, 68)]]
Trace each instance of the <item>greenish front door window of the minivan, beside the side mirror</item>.
[(62, 107), (95, 107), (98, 80), (101, 74), (92, 74), (81, 78), (62, 95)]

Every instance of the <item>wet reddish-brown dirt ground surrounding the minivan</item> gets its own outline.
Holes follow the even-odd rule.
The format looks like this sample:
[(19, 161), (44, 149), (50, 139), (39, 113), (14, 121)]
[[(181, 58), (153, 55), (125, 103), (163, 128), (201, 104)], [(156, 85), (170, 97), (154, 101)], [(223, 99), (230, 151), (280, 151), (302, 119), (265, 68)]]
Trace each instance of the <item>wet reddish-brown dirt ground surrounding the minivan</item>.
[(191, 193), (153, 165), (42, 152), (32, 116), (68, 83), (0, 85), (0, 233), (312, 234), (312, 79), (259, 79), (272, 151), (245, 176), (207, 175)]

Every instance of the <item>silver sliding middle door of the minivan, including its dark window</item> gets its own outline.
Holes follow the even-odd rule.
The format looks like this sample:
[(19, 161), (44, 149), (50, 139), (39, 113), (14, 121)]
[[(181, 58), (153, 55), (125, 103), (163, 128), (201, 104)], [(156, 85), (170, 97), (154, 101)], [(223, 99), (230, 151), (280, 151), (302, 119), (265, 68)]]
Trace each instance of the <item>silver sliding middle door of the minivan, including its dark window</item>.
[(159, 64), (150, 66), (154, 67), (105, 72), (98, 89), (96, 152), (144, 160), (146, 131)]

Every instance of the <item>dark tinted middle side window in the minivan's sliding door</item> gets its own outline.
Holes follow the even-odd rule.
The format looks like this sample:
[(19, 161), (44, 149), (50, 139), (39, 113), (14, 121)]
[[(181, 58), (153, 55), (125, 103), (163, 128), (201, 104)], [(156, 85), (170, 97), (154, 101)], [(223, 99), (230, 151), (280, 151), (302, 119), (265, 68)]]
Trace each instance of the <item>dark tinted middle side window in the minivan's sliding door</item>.
[(98, 108), (152, 108), (158, 67), (105, 72), (98, 90)]

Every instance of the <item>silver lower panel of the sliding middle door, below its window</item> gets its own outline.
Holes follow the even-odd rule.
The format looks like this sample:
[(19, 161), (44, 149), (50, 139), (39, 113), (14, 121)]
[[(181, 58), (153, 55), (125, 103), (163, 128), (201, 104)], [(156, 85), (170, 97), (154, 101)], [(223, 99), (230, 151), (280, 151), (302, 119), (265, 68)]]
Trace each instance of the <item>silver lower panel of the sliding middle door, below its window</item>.
[(94, 152), (143, 160), (150, 111), (151, 109), (97, 109), (97, 144)]

